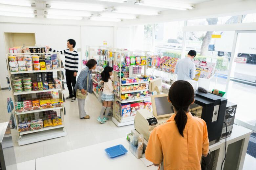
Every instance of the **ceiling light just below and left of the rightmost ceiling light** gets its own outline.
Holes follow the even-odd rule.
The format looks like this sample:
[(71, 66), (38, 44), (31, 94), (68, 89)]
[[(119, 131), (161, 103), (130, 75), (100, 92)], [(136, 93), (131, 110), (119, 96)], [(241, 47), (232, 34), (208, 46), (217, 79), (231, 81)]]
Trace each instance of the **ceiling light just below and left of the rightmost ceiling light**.
[(158, 15), (160, 12), (156, 10), (136, 9), (127, 7), (117, 7), (112, 9), (112, 12), (125, 13), (125, 14), (138, 14), (138, 15)]

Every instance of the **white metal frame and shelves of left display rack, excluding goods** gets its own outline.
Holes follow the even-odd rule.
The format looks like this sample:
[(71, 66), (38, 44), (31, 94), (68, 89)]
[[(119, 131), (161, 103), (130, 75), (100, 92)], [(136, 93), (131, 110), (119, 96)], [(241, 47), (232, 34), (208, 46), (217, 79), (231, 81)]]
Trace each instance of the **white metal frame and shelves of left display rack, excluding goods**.
[[(45, 59), (45, 54), (56, 54), (58, 60), (58, 69), (51, 69), (51, 70), (32, 70), (32, 71), (19, 71), (19, 72), (11, 72), (9, 68), (9, 56), (13, 55), (37, 55), (39, 56), (39, 61), (43, 61)], [(11, 93), (13, 97), (13, 104), (15, 105), (16, 102), (22, 102), (24, 100), (33, 100), (33, 99), (62, 99), (63, 100), (63, 93), (62, 93), (62, 74), (61, 74), (61, 60), (58, 53), (8, 53), (7, 54), (7, 65), (8, 65), (8, 72), (10, 76), (10, 86), (11, 86)], [(32, 81), (36, 80), (36, 74), (38, 73), (47, 73), (51, 72), (53, 78), (57, 78), (61, 80), (61, 88), (57, 89), (49, 89), (49, 90), (38, 90), (38, 91), (22, 91), (22, 92), (14, 92), (13, 88), (13, 78), (19, 77), (31, 77)], [(24, 107), (25, 109), (25, 107)], [(13, 113), (16, 118), (17, 125), (19, 122), (23, 121), (31, 121), (37, 119), (49, 119), (48, 112), (54, 110), (54, 115), (61, 118), (62, 125), (52, 126), (52, 127), (43, 127), (38, 130), (29, 130), (29, 131), (18, 131), (18, 144), (31, 144), (34, 142), (44, 141), (48, 139), (53, 139), (61, 136), (66, 136), (67, 132), (65, 130), (64, 124), (64, 106), (61, 107), (53, 107), (53, 108), (45, 108), (45, 109), (38, 109), (38, 110), (29, 110), (23, 112), (17, 112), (13, 109)]]

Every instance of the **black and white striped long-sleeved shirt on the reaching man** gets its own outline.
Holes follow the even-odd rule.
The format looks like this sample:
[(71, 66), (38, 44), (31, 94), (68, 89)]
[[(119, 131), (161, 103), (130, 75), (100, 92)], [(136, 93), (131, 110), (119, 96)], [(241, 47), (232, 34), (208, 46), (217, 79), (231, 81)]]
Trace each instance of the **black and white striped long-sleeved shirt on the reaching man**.
[[(57, 50), (53, 50), (50, 48), (51, 52), (56, 52)], [(60, 54), (64, 54), (65, 56), (65, 70), (70, 70), (74, 72), (78, 72), (78, 53), (74, 51), (62, 50), (57, 51)]]

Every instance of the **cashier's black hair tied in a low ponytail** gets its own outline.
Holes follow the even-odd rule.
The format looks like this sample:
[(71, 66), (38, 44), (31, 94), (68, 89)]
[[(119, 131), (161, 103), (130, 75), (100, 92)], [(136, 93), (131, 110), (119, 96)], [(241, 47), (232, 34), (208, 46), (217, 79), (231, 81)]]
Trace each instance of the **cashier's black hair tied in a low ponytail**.
[(185, 111), (187, 112), (189, 110), (189, 105), (194, 102), (193, 86), (187, 81), (175, 81), (169, 89), (168, 98), (174, 109), (178, 110), (174, 120), (181, 136), (184, 137), (183, 130), (187, 124), (187, 115)]

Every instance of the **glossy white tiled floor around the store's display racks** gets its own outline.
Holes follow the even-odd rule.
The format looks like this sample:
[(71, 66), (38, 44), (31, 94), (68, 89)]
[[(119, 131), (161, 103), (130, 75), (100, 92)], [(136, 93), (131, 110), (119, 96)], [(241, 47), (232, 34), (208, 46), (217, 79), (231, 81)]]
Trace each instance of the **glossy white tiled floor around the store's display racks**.
[[(64, 94), (68, 96), (68, 91), (65, 90)], [(7, 97), (11, 97), (11, 92), (8, 90), (0, 91), (0, 96), (0, 108), (5, 110), (0, 114), (0, 122), (9, 121), (10, 115), (7, 113), (6, 100)], [(65, 137), (18, 146), (17, 131), (12, 129), (14, 150), (18, 163), (118, 139), (126, 136), (126, 134), (134, 128), (134, 125), (117, 127), (111, 120), (105, 124), (97, 122), (96, 118), (99, 116), (102, 104), (97, 101), (94, 94), (88, 95), (85, 104), (86, 112), (91, 116), (91, 119), (79, 119), (77, 101), (71, 102), (70, 100), (66, 100), (64, 105), (66, 108), (65, 128), (67, 130), (67, 136)], [(243, 169), (249, 170), (251, 167), (255, 166), (256, 159), (246, 154)]]

